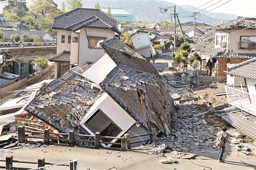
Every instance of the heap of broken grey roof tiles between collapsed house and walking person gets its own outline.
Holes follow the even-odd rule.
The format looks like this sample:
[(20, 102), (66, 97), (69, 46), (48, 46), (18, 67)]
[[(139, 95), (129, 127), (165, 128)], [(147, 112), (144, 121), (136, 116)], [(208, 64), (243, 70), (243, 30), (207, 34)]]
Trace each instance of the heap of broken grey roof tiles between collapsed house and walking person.
[(175, 151), (191, 151), (196, 148), (211, 148), (214, 146), (216, 134), (220, 128), (208, 125), (205, 117), (212, 115), (195, 116), (198, 106), (186, 102), (177, 105), (175, 123), (172, 135), (161, 137), (159, 143), (166, 143), (168, 148)]

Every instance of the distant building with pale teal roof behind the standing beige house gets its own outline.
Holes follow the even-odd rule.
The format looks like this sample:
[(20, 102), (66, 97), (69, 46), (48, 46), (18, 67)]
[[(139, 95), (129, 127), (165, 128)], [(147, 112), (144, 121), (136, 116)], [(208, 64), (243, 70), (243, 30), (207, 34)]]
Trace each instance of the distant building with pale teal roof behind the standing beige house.
[[(108, 12), (108, 8), (100, 8), (103, 12)], [(122, 8), (110, 8), (111, 10), (111, 17), (118, 20), (119, 22), (122, 22), (124, 20), (127, 20), (129, 22), (136, 21), (133, 14), (123, 10)]]

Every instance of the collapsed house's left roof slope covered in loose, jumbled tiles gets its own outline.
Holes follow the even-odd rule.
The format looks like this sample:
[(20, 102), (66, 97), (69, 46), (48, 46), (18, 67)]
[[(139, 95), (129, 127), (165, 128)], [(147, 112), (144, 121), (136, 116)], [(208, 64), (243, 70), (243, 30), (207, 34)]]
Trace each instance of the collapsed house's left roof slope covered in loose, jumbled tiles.
[(90, 84), (86, 83), (88, 80), (81, 76), (79, 70), (83, 71), (86, 67), (76, 66), (60, 79), (51, 82), (31, 101), (26, 111), (60, 132), (77, 131), (79, 120), (103, 93), (93, 91)]

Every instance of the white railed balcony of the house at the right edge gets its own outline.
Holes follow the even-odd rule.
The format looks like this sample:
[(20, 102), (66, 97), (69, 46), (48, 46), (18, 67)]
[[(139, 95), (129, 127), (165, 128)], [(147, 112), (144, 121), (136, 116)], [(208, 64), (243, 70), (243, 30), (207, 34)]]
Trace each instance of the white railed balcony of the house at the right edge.
[(245, 82), (225, 86), (228, 104), (256, 116), (256, 95), (247, 92)]

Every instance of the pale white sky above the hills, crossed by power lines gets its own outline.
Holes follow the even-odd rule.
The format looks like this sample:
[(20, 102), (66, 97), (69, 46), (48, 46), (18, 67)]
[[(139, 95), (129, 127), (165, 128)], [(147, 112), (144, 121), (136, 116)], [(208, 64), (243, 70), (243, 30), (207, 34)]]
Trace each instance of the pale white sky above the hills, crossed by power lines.
[[(231, 14), (234, 14), (237, 16), (243, 16), (243, 17), (256, 17), (256, 0), (231, 0), (231, 1), (230, 0), (166, 0), (166, 1), (175, 3), (177, 5), (188, 4), (195, 7), (199, 7), (205, 4), (200, 8), (207, 8), (208, 6), (212, 5), (211, 7), (205, 10), (212, 10), (213, 8), (216, 8), (221, 4), (223, 4), (223, 6), (220, 6), (219, 8), (212, 10), (212, 12), (231, 13)], [(195, 10), (198, 10), (198, 9), (195, 9)]]

